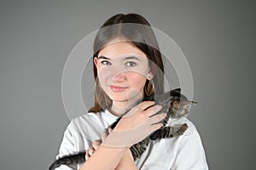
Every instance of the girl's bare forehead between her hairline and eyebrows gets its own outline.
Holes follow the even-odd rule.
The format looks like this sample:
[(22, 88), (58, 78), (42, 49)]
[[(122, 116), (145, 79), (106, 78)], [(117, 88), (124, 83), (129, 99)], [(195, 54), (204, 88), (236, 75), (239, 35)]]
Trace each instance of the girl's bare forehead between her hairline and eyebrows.
[(127, 41), (109, 42), (106, 47), (102, 48), (98, 56), (105, 56), (109, 59), (116, 59), (120, 56), (136, 55), (147, 58), (146, 54), (140, 48)]

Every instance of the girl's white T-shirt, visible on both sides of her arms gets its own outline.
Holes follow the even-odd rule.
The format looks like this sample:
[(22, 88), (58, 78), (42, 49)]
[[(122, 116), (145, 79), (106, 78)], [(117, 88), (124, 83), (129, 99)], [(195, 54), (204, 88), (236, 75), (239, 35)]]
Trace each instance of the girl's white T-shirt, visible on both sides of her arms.
[[(81, 150), (89, 150), (93, 141), (101, 139), (105, 131), (118, 116), (113, 116), (109, 111), (88, 113), (74, 118), (64, 133), (58, 159), (61, 156), (72, 154)], [(140, 170), (207, 170), (207, 159), (201, 138), (195, 125), (187, 118), (172, 119), (170, 126), (187, 123), (186, 132), (170, 139), (161, 139), (160, 142), (152, 141), (143, 155), (135, 161)], [(74, 167), (61, 167), (55, 170), (75, 170), (82, 164)]]

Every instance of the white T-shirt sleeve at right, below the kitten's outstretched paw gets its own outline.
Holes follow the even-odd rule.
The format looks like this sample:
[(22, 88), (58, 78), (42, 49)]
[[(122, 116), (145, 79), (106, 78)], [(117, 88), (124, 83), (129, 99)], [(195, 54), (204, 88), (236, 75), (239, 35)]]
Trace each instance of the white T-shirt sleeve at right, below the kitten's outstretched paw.
[(177, 147), (172, 170), (208, 170), (207, 159), (201, 137), (190, 122), (189, 129), (183, 134)]

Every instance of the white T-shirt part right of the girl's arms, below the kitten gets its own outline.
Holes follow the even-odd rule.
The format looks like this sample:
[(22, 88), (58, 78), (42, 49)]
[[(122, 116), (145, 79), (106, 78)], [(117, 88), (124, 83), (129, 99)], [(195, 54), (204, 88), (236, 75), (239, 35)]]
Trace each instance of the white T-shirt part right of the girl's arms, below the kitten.
[(189, 127), (183, 135), (152, 141), (148, 147), (150, 149), (145, 151), (142, 158), (137, 161), (137, 165), (143, 165), (143, 169), (207, 169), (201, 137), (194, 123), (182, 117), (171, 119), (167, 126), (172, 127), (183, 123), (187, 123)]

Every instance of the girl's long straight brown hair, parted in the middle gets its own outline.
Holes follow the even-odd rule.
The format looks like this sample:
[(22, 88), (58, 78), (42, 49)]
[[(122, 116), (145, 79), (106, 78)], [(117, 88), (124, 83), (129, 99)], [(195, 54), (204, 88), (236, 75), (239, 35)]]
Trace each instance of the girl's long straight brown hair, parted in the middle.
[[(146, 81), (144, 97), (151, 94), (162, 94), (164, 92), (164, 65), (154, 31), (148, 21), (139, 14), (116, 14), (109, 18), (96, 34), (93, 58), (98, 57), (101, 49), (117, 37), (124, 37), (125, 41), (128, 40), (135, 47), (141, 49), (150, 61), (149, 68), (154, 77), (151, 81)], [(96, 65), (93, 65), (93, 71), (96, 81), (96, 94), (95, 104), (89, 111), (104, 111), (112, 105), (112, 100), (101, 88), (97, 78)]]

